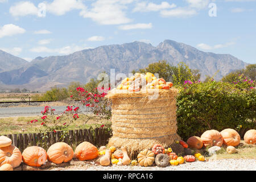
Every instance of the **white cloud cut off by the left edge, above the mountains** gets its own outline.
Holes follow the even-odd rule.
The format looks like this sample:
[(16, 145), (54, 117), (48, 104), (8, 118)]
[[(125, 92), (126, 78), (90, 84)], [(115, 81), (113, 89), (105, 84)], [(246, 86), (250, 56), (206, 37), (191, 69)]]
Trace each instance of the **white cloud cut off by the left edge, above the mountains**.
[(24, 34), (26, 30), (24, 28), (20, 28), (15, 24), (5, 24), (3, 27), (0, 27), (0, 38), (4, 36), (13, 36), (16, 34)]

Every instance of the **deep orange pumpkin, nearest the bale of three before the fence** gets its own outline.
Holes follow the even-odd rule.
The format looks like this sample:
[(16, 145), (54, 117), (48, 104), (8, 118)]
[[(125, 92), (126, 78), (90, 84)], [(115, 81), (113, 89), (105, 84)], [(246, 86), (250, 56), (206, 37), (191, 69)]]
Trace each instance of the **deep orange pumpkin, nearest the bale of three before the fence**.
[(98, 149), (90, 142), (82, 142), (76, 147), (75, 155), (79, 160), (96, 159), (98, 157)]

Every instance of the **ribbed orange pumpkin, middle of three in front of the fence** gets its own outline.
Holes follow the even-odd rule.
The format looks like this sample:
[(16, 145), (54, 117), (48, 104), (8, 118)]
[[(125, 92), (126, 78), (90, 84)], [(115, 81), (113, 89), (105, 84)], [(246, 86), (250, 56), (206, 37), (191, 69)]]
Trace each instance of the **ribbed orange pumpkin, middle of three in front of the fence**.
[(48, 160), (55, 164), (67, 163), (73, 159), (73, 155), (72, 147), (64, 142), (52, 144), (47, 151)]

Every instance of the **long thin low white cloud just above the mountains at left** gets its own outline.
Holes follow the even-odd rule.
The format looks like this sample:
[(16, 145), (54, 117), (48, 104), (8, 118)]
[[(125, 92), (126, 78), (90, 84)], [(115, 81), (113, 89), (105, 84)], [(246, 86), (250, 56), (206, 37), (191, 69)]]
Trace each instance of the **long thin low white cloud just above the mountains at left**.
[(45, 53), (59, 53), (60, 55), (69, 55), (73, 52), (77, 52), (77, 51), (81, 51), (83, 49), (89, 49), (89, 48), (92, 48), (92, 47), (85, 47), (85, 46), (82, 47), (82, 46), (72, 45), (72, 46), (65, 46), (61, 48), (48, 48), (45, 46), (39, 46), (39, 47), (31, 48), (30, 51), (37, 52), (37, 53), (45, 52)]

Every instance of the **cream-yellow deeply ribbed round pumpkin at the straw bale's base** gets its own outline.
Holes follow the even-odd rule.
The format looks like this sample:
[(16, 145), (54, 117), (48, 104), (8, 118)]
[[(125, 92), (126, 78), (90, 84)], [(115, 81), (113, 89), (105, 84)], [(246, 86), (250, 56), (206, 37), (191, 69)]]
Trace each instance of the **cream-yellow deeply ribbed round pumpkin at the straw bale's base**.
[(154, 152), (147, 149), (139, 152), (137, 158), (139, 165), (144, 167), (151, 166), (155, 162)]

